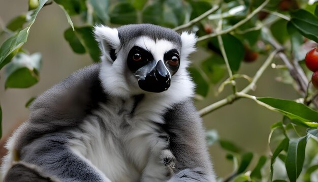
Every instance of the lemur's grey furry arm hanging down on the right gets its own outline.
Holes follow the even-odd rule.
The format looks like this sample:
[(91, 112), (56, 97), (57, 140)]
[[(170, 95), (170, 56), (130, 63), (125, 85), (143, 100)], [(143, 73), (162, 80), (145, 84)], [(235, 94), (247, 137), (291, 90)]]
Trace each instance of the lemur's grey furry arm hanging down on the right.
[(176, 158), (176, 174), (169, 182), (215, 181), (209, 159), (205, 130), (193, 102), (177, 104), (165, 115), (165, 129), (170, 135), (170, 148)]

